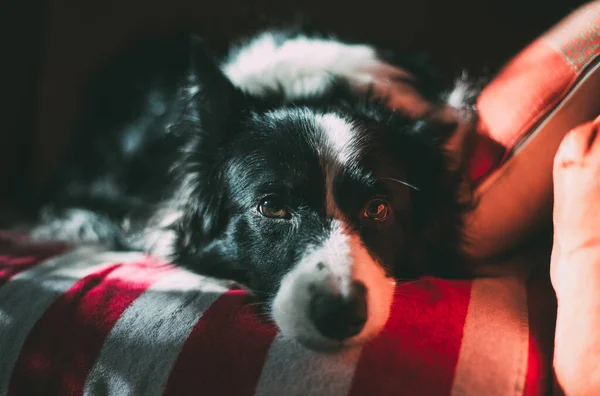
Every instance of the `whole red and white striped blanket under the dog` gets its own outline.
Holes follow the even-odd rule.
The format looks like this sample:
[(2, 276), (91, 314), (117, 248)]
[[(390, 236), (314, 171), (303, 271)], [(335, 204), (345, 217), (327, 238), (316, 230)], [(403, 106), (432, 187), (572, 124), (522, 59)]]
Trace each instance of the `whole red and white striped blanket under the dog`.
[(552, 309), (536, 290), (399, 285), (376, 340), (318, 354), (243, 291), (138, 253), (1, 234), (0, 395), (543, 394)]

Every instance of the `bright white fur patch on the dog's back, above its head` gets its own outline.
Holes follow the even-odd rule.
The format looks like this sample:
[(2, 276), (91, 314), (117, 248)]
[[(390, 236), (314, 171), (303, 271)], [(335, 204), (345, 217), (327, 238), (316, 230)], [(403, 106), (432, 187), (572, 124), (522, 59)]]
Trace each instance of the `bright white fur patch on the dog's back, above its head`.
[(406, 75), (377, 58), (367, 45), (298, 36), (283, 42), (265, 32), (235, 52), (222, 70), (238, 88), (254, 95), (283, 90), (288, 99), (324, 92), (334, 77), (357, 85)]

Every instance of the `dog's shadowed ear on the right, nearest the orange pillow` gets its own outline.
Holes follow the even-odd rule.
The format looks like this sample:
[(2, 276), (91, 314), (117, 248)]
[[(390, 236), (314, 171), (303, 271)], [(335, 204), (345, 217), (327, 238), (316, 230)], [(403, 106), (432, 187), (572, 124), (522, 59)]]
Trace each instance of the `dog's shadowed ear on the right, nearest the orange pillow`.
[[(414, 193), (414, 225), (410, 262), (427, 273), (449, 276), (460, 263), (456, 246), (462, 240), (462, 215), (471, 206), (470, 185), (465, 177), (475, 118), (455, 109), (440, 108), (415, 122), (408, 178), (419, 187)], [(449, 262), (451, 261), (452, 264)]]

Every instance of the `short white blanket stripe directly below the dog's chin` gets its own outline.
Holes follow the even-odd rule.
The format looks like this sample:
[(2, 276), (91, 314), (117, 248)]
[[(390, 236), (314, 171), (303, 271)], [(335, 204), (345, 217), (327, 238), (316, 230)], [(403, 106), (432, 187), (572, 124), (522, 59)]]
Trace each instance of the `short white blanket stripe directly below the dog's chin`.
[(360, 353), (360, 347), (316, 353), (280, 334), (269, 349), (255, 395), (347, 395)]

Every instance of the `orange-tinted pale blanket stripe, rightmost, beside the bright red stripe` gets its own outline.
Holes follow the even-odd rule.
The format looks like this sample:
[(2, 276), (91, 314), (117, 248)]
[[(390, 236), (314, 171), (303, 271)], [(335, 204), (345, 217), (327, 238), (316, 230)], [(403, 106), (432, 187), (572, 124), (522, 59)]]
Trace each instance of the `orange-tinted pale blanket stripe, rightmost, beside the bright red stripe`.
[(523, 394), (527, 315), (527, 287), (521, 277), (473, 281), (451, 395)]

